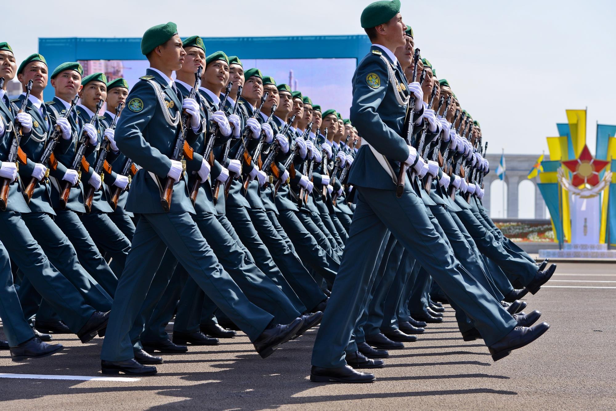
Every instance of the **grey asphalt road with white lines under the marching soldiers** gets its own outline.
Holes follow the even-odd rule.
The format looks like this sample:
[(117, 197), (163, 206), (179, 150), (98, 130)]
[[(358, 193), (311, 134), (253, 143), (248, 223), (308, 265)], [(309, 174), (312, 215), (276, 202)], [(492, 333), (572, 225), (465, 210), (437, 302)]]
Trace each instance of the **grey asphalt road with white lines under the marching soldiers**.
[(527, 297), (551, 329), (496, 363), (479, 340), (461, 339), (450, 308), (362, 385), (309, 381), (316, 329), (265, 360), (241, 335), (166, 355), (155, 377), (125, 381), (83, 378), (103, 377), (101, 338), (82, 345), (55, 335), (66, 348), (52, 357), (14, 363), (0, 351), (0, 409), (615, 409), (615, 268), (559, 264), (548, 286)]

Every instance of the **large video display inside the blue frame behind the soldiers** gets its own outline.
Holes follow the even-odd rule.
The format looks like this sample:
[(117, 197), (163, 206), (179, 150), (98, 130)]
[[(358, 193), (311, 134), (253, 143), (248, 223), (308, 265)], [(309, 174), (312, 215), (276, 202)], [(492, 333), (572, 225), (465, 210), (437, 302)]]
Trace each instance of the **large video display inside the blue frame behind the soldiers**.
[[(102, 72), (108, 80), (126, 79), (131, 87), (149, 66), (147, 60), (81, 60), (79, 63), (83, 65), (84, 76)], [(300, 90), (323, 111), (333, 108), (344, 118), (349, 116), (355, 58), (243, 59), (242, 64), (244, 70), (259, 68), (277, 84), (286, 83), (291, 89)]]

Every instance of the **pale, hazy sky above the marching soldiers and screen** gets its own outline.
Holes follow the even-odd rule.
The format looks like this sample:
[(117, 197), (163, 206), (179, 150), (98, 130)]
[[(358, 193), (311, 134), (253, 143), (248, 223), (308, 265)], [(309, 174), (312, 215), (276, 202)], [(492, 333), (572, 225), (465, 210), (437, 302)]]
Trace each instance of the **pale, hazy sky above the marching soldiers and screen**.
[[(2, 5), (0, 41), (17, 59), (39, 37), (139, 37), (176, 22), (180, 35), (362, 34), (363, 0), (160, 0), (72, 4), (30, 0)], [(541, 153), (565, 109), (588, 107), (594, 124), (616, 124), (616, 2), (607, 0), (402, 0), (415, 44), (481, 123), (490, 151)], [(240, 56), (241, 58), (241, 56)]]

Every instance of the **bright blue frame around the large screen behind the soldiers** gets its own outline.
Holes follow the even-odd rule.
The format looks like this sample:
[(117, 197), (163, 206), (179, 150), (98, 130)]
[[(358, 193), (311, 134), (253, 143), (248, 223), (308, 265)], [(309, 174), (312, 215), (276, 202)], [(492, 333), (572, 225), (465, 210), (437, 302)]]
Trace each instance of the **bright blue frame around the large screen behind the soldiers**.
[[(240, 58), (355, 58), (356, 64), (370, 50), (365, 34), (353, 36), (204, 37), (208, 54), (223, 50)], [(141, 38), (39, 38), (39, 54), (49, 70), (77, 60), (145, 60)], [(144, 73), (145, 74), (145, 73)], [(48, 84), (45, 100), (54, 89)]]

